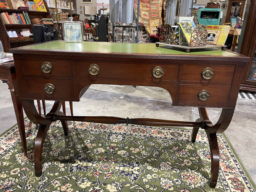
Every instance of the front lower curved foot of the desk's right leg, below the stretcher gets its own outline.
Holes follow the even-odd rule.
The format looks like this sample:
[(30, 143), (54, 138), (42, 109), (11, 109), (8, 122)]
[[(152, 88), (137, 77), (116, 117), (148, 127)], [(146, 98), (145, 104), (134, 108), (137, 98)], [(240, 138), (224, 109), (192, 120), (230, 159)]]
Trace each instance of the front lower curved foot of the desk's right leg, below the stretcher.
[(218, 140), (216, 133), (206, 134), (210, 145), (210, 158), (211, 158), (211, 173), (210, 173), (210, 187), (215, 188), (218, 180), (218, 171), (220, 169), (220, 153), (218, 150)]

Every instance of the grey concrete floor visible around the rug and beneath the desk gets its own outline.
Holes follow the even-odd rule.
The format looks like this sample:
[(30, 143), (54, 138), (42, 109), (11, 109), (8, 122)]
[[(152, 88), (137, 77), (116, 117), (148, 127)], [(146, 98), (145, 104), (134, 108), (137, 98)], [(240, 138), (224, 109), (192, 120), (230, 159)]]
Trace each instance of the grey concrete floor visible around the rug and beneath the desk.
[[(47, 102), (49, 111), (52, 102)], [(194, 121), (198, 109), (172, 106), (169, 93), (158, 87), (93, 85), (80, 102), (74, 102), (74, 115), (118, 116), (122, 118), (159, 118)], [(67, 114), (70, 114), (66, 102)], [(209, 118), (216, 122), (220, 109), (210, 108)], [(242, 164), (256, 182), (256, 101), (238, 98), (230, 126), (225, 131)], [(0, 84), (0, 134), (16, 123), (7, 84)], [(190, 128), (187, 128), (190, 129)]]

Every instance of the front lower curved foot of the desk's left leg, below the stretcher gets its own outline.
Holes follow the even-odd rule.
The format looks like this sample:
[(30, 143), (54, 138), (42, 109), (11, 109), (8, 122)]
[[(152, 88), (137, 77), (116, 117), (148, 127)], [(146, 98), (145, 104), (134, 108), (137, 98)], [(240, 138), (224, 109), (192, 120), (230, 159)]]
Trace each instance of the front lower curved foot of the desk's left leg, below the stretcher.
[(40, 124), (36, 141), (34, 142), (34, 172), (37, 177), (42, 175), (42, 146), (50, 124)]

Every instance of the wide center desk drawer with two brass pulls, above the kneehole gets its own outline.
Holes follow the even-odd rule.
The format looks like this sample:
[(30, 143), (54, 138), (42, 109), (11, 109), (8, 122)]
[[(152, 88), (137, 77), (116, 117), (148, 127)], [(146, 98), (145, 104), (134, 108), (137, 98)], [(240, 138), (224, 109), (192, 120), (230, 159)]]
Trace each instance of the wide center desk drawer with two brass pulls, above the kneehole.
[(149, 63), (143, 60), (134, 62), (126, 62), (119, 60), (117, 62), (103, 62), (98, 60), (76, 61), (74, 65), (74, 74), (78, 77), (90, 76), (88, 70), (90, 65), (96, 64), (99, 68), (97, 78), (115, 78), (115, 79), (137, 79), (150, 80), (153, 79), (153, 70), (157, 66), (161, 66), (163, 74), (162, 81), (175, 81), (178, 76), (177, 63)]

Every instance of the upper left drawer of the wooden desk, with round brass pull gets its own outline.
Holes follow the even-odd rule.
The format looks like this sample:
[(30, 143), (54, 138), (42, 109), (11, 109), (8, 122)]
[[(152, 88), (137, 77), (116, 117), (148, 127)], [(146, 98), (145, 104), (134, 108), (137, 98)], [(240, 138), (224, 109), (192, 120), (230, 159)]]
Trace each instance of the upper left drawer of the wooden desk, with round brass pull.
[(44, 78), (69, 78), (72, 75), (70, 60), (25, 58), (19, 63), (19, 65), (23, 66), (23, 74), (29, 76), (44, 76)]

